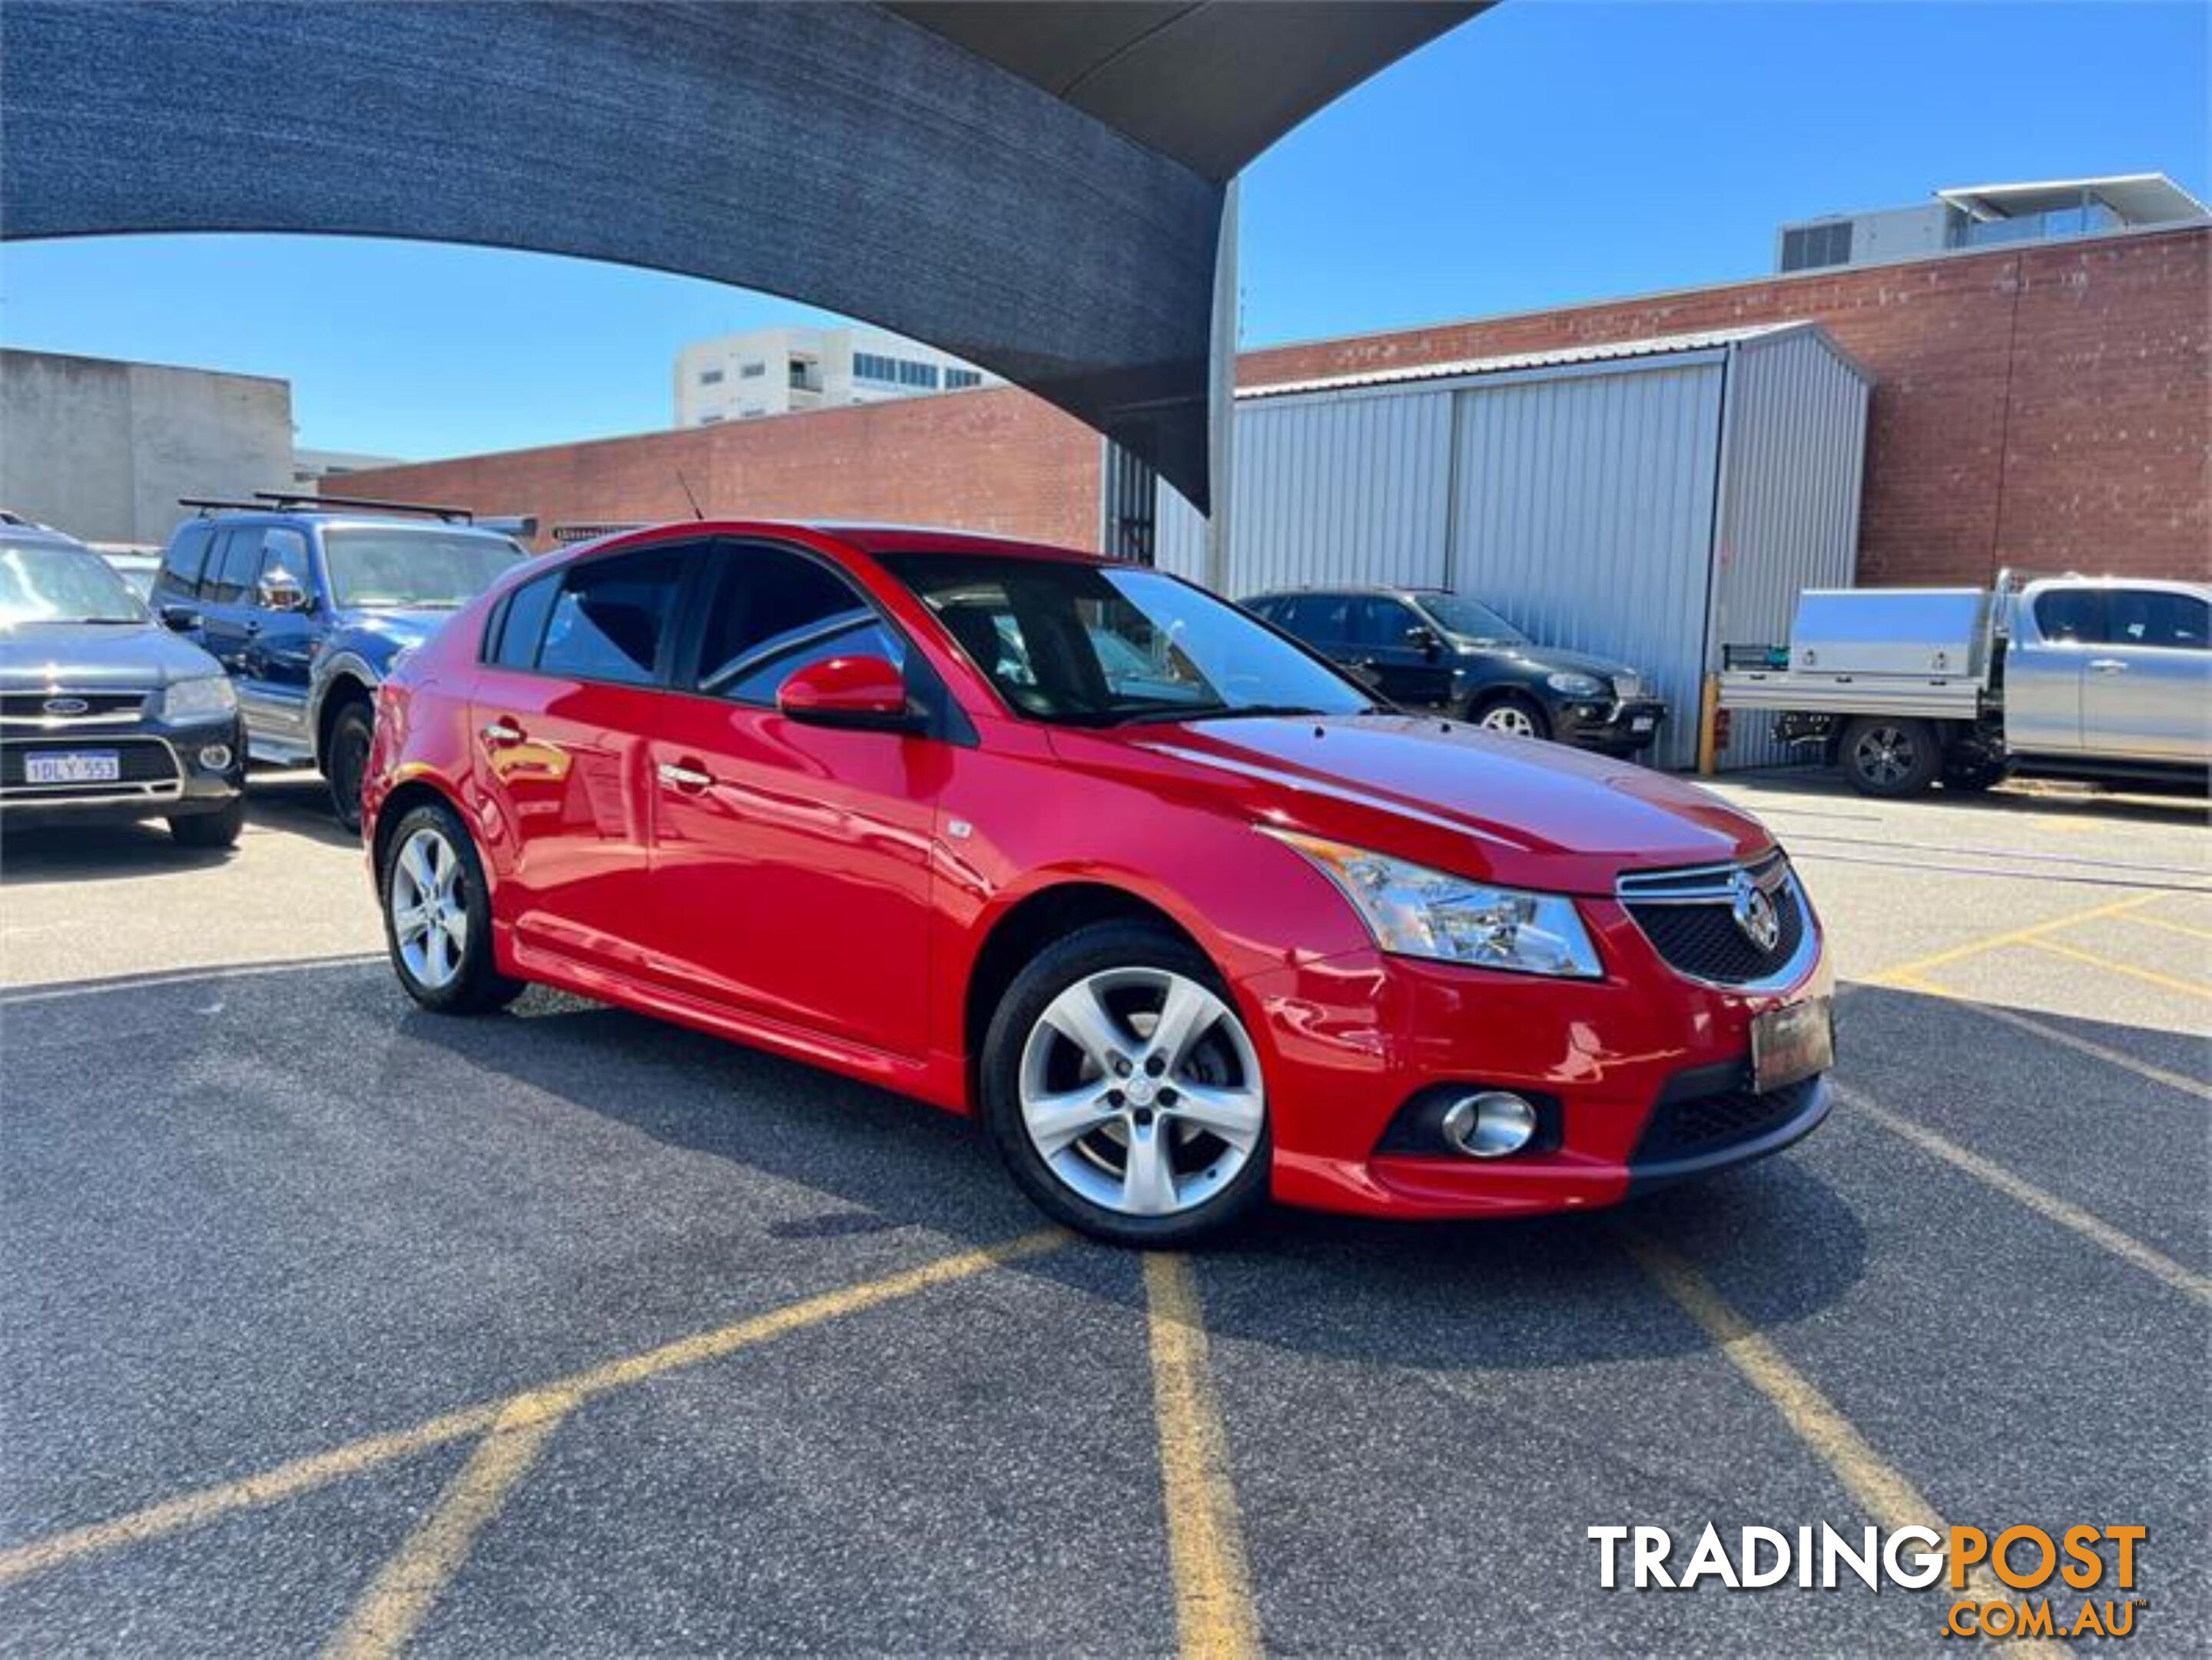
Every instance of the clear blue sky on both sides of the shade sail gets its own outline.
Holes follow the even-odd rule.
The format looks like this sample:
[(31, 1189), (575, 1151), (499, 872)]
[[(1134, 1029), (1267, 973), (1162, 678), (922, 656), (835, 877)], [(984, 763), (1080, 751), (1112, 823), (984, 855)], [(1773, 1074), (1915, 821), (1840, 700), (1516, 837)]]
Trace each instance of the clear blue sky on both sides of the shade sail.
[[(1752, 277), (1774, 226), (1949, 184), (2212, 186), (2212, 7), (1506, 0), (1245, 175), (1243, 341)], [(299, 440), (407, 458), (668, 425), (692, 339), (790, 301), (321, 237), (0, 252), (0, 339), (281, 374)]]

